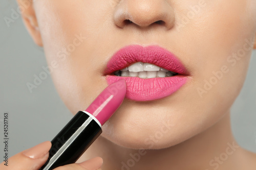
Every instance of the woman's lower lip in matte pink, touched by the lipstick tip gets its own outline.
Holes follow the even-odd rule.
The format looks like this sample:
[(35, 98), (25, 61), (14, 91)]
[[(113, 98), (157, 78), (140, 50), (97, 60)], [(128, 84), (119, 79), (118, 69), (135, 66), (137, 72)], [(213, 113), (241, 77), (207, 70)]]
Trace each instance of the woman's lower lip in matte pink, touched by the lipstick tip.
[(176, 75), (166, 78), (141, 79), (138, 77), (106, 76), (108, 84), (124, 79), (127, 86), (126, 98), (133, 101), (152, 101), (165, 98), (179, 90), (188, 77)]

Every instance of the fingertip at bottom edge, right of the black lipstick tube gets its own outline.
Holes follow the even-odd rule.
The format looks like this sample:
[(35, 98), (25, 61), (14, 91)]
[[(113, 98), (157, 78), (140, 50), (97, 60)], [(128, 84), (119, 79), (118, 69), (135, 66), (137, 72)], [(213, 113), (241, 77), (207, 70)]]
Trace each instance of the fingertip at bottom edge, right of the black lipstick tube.
[(53, 170), (96, 170), (101, 167), (102, 158), (96, 157), (81, 163), (73, 163), (64, 166), (59, 166)]

